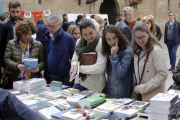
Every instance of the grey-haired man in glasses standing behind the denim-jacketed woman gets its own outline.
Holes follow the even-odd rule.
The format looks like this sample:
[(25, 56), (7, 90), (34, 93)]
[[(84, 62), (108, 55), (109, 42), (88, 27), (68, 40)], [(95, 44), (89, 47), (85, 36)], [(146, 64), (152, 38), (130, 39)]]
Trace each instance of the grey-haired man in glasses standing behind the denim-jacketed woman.
[(127, 37), (128, 41), (131, 43), (132, 31), (130, 28), (130, 22), (133, 18), (133, 9), (131, 7), (125, 7), (123, 12), (124, 19), (121, 20), (118, 29)]

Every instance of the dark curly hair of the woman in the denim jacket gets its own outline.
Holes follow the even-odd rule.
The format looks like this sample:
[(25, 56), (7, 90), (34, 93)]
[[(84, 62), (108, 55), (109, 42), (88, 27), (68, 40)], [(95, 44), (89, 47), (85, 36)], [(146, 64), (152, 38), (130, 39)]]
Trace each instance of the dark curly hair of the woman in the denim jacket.
[(104, 56), (111, 54), (111, 48), (106, 41), (107, 32), (115, 33), (116, 37), (119, 40), (119, 43), (118, 43), (119, 51), (124, 51), (125, 49), (127, 49), (127, 46), (129, 45), (128, 39), (123, 35), (123, 33), (115, 25), (107, 25), (103, 30), (103, 36), (102, 36), (102, 54)]

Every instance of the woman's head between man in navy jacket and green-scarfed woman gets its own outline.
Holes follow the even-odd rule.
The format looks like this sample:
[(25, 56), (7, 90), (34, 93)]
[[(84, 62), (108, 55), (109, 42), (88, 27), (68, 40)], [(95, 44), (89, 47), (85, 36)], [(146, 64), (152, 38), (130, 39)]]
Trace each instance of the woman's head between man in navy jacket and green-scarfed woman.
[(76, 40), (81, 38), (80, 30), (79, 30), (79, 27), (77, 25), (70, 25), (67, 32), (69, 34), (71, 34), (72, 36), (74, 36), (76, 38)]

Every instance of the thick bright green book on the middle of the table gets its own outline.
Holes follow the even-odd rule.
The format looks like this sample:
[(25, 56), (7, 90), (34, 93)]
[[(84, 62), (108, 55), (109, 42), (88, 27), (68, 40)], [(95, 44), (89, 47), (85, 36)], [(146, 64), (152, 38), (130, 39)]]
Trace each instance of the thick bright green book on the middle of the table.
[(93, 106), (95, 104), (103, 102), (104, 98), (97, 97), (97, 96), (91, 96), (91, 97), (88, 97), (88, 98), (84, 98), (81, 101), (85, 104), (85, 106), (91, 107), (91, 106)]

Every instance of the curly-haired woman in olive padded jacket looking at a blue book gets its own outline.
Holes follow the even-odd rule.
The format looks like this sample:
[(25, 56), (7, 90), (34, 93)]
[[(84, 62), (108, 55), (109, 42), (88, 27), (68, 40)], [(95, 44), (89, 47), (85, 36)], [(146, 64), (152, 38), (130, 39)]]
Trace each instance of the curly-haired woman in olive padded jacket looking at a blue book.
[[(11, 79), (8, 79), (9, 83), (4, 86), (6, 89), (12, 89), (13, 80), (41, 77), (45, 56), (43, 45), (32, 39), (32, 34), (36, 32), (37, 27), (30, 20), (21, 21), (16, 25), (17, 39), (8, 42), (4, 55), (5, 75), (7, 79)], [(23, 65), (24, 58), (38, 59), (38, 68), (28, 69)]]

